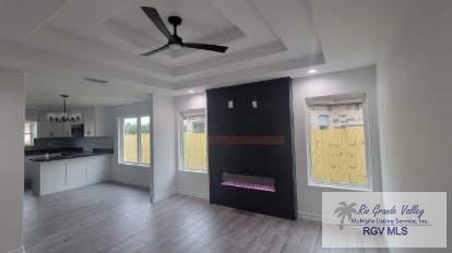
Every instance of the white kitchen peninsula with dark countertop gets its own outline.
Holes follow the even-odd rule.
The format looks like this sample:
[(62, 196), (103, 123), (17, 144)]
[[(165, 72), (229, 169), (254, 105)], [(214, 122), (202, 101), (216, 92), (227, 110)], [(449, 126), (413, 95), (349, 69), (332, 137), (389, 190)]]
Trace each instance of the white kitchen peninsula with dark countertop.
[(108, 180), (110, 152), (83, 152), (27, 160), (35, 195), (46, 195)]

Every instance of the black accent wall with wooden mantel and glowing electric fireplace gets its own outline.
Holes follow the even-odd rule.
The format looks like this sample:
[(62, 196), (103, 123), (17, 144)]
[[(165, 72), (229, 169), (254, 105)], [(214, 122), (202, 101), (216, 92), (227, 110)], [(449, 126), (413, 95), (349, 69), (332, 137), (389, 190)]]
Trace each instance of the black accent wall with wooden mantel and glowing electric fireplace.
[[(296, 218), (290, 86), (285, 77), (207, 91), (211, 203)], [(226, 185), (231, 173), (246, 177)], [(240, 186), (249, 176), (271, 179), (258, 181), (274, 181), (274, 192)]]

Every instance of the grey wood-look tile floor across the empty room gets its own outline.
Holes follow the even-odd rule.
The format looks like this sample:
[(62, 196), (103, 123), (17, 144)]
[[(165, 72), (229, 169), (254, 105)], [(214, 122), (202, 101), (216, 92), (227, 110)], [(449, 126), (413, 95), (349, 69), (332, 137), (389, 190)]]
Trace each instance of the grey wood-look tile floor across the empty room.
[(24, 197), (27, 253), (386, 252), (322, 249), (321, 225), (289, 221), (176, 195), (102, 183)]

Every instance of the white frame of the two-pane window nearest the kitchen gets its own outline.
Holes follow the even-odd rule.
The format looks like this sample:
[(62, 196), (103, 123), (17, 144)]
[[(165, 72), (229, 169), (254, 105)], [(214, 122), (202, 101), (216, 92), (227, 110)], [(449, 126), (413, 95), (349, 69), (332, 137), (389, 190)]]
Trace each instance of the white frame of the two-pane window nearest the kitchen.
[[(150, 142), (151, 142), (151, 136), (152, 136), (152, 117), (151, 115), (129, 115), (129, 116), (122, 116), (118, 118), (118, 164), (120, 165), (128, 165), (128, 166), (138, 166), (138, 167), (143, 167), (143, 168), (152, 168), (152, 142), (151, 142), (151, 147), (150, 147), (150, 164), (143, 164), (142, 162), (142, 152), (141, 152), (141, 118), (144, 117), (148, 117), (150, 118)], [(136, 152), (138, 152), (138, 159), (136, 162), (133, 161), (124, 161), (123, 160), (123, 135), (124, 135), (124, 131), (123, 131), (123, 126), (124, 126), (124, 120), (126, 119), (136, 119)]]

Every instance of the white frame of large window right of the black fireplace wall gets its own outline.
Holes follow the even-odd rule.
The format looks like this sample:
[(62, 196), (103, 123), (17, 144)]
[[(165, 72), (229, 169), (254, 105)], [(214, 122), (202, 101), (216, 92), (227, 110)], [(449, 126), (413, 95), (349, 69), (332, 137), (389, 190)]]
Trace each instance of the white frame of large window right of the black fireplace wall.
[[(366, 171), (367, 171), (367, 185), (356, 185), (350, 183), (332, 183), (332, 182), (322, 182), (318, 181), (313, 177), (313, 167), (311, 158), (311, 110), (310, 107), (314, 105), (344, 105), (344, 104), (362, 104), (362, 121), (364, 121), (364, 131), (365, 131), (365, 152), (366, 152)], [(368, 120), (368, 105), (367, 105), (367, 94), (344, 94), (344, 95), (330, 95), (330, 96), (320, 96), (320, 97), (309, 97), (306, 98), (306, 156), (307, 156), (307, 168), (308, 168), (308, 185), (318, 186), (318, 188), (328, 188), (328, 189), (338, 189), (338, 190), (348, 190), (348, 191), (364, 191), (371, 192), (374, 189), (373, 185), (373, 169), (372, 169), (372, 156), (371, 156), (371, 145), (370, 145), (370, 130), (369, 130), (369, 120)], [(331, 122), (330, 122), (331, 123)]]

